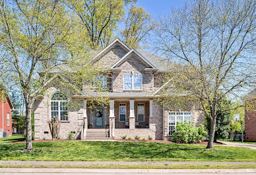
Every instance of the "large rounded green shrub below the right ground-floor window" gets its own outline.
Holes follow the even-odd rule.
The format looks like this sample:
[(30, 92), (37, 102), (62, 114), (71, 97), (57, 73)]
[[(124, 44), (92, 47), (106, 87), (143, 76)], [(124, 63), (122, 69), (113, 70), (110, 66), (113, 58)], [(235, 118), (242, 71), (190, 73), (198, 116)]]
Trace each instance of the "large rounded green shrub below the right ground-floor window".
[(206, 134), (207, 131), (202, 124), (199, 127), (193, 127), (191, 122), (187, 124), (177, 122), (172, 141), (176, 143), (199, 143), (205, 139)]

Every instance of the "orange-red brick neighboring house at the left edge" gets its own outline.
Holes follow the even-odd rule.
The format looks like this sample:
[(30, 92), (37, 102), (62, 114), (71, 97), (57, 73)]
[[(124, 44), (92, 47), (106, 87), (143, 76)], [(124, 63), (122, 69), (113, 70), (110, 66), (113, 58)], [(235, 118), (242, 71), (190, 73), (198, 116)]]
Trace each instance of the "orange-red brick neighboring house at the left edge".
[(12, 136), (13, 103), (5, 90), (1, 87), (0, 97), (0, 137)]

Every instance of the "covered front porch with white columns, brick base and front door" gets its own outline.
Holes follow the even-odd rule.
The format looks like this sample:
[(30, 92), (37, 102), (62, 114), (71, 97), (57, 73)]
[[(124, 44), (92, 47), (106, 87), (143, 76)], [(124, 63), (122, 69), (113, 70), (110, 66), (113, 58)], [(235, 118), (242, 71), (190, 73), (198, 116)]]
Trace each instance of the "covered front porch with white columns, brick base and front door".
[(109, 106), (88, 107), (88, 101), (84, 100), (81, 139), (92, 139), (97, 134), (91, 133), (100, 131), (96, 129), (102, 130), (99, 136), (112, 139), (119, 139), (121, 136), (150, 136), (154, 139), (156, 128), (152, 122), (152, 104), (151, 99), (112, 99)]

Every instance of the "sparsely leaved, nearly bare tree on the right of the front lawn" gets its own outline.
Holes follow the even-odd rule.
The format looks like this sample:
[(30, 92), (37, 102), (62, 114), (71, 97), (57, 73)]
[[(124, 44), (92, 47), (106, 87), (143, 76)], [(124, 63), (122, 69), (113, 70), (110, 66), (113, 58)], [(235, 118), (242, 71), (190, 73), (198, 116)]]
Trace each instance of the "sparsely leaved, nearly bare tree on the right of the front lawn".
[(157, 51), (183, 65), (170, 70), (166, 81), (179, 93), (188, 91), (210, 118), (207, 148), (214, 141), (218, 102), (226, 95), (241, 97), (256, 82), (255, 6), (252, 0), (194, 0), (161, 18), (155, 30)]

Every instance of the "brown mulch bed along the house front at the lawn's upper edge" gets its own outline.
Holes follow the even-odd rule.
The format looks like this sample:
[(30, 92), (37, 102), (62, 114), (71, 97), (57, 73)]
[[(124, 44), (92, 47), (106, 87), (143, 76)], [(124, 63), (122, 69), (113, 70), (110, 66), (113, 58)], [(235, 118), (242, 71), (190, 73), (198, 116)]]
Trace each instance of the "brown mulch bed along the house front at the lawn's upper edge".
[[(143, 140), (143, 139), (114, 139), (115, 141), (134, 141), (134, 142), (155, 142), (155, 143), (174, 143), (168, 140)], [(48, 142), (48, 141), (80, 141), (80, 139), (37, 139), (32, 140), (32, 143), (36, 142)], [(26, 143), (26, 141), (16, 141), (14, 143)], [(191, 143), (193, 145), (207, 145), (208, 141), (202, 141), (201, 143)], [(213, 143), (213, 145), (226, 145), (225, 143)]]

